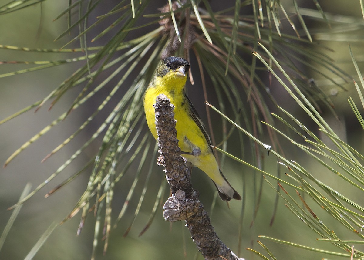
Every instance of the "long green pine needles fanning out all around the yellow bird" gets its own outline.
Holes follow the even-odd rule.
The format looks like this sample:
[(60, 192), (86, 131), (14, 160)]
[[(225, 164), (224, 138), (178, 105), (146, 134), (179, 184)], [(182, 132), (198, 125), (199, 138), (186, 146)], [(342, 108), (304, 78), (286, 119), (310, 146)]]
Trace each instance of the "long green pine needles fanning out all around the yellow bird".
[[(0, 15), (33, 5), (42, 5), (45, 1), (9, 1), (0, 6)], [(162, 58), (172, 55), (182, 56), (191, 64), (190, 83), (201, 82), (203, 97), (201, 96), (200, 100), (203, 99), (206, 102), (214, 100), (217, 103), (217, 106), (210, 104), (206, 106), (207, 128), (213, 145), (222, 153), (222, 162), (226, 156), (232, 157), (253, 168), (257, 173), (261, 173), (265, 182), (262, 181), (258, 184), (259, 181), (256, 180), (257, 183), (254, 184), (258, 187), (256, 197), (260, 198), (263, 186), (268, 185), (276, 193), (276, 203), (283, 201), (294, 216), (302, 220), (309, 229), (317, 234), (319, 241), (322, 241), (323, 244), (335, 245), (337, 251), (306, 247), (303, 245), (304, 241), (300, 241), (301, 245), (268, 236), (261, 236), (261, 239), (327, 255), (353, 256), (354, 259), (363, 259), (364, 253), (356, 250), (352, 244), (363, 243), (361, 231), (364, 228), (364, 205), (361, 205), (360, 201), (346, 197), (345, 194), (336, 192), (325, 184), (324, 180), (301, 166), (299, 162), (290, 161), (289, 155), (284, 153), (286, 149), (282, 147), (280, 141), (288, 140), (293, 146), (307, 153), (310, 159), (323, 165), (328, 172), (339, 176), (341, 181), (348, 183), (359, 192), (364, 191), (364, 168), (361, 162), (364, 159), (363, 155), (342, 141), (322, 117), (323, 110), (329, 110), (336, 115), (330, 94), (317, 85), (313, 79), (308, 78), (301, 69), (302, 66), (306, 66), (325, 79), (327, 84), (345, 91), (342, 83), (352, 82), (352, 78), (356, 76), (342, 70), (330, 55), (325, 54), (330, 50), (320, 44), (318, 40), (325, 40), (328, 35), (310, 29), (307, 21), (318, 20), (325, 23), (327, 30), (334, 32), (331, 37), (332, 35), (337, 36), (336, 39), (330, 40), (340, 40), (339, 36), (343, 30), (357, 35), (357, 31), (363, 29), (363, 19), (352, 18), (352, 26), (349, 27), (348, 20), (325, 13), (317, 0), (313, 1), (316, 9), (302, 8), (299, 1), (296, 0), (293, 0), (293, 4), (280, 0), (236, 0), (226, 9), (214, 9), (208, 0), (169, 0), (160, 7), (155, 7), (155, 2), (151, 0), (121, 0), (115, 2), (115, 6), (110, 11), (94, 17), (95, 11), (103, 2), (102, 0), (68, 1), (68, 7), (61, 11), (58, 17), (55, 17), (55, 20), (67, 17), (67, 29), (55, 39), (67, 39), (68, 42), (64, 46), (32, 49), (27, 46), (0, 45), (0, 48), (9, 52), (64, 55), (64, 59), (58, 60), (2, 61), (2, 66), (26, 64), (28, 67), (0, 74), (0, 78), (60, 65), (78, 62), (81, 64), (43, 99), (0, 121), (0, 125), (4, 124), (21, 114), (31, 110), (37, 111), (44, 106), (52, 109), (56, 103), (62, 102), (66, 92), (73, 89), (79, 90), (69, 109), (11, 154), (5, 162), (5, 166), (33, 142), (51, 131), (54, 126), (67, 120), (71, 111), (77, 113), (79, 107), (84, 106), (95, 95), (107, 89), (106, 98), (99, 104), (95, 104), (94, 111), (87, 120), (80, 122), (78, 130), (52, 150), (43, 161), (51, 156), (56, 156), (60, 149), (77, 138), (84, 129), (87, 129), (101, 111), (111, 106), (110, 100), (122, 93), (116, 105), (112, 105), (110, 114), (104, 118), (91, 138), (84, 142), (74, 154), (71, 154), (70, 158), (54, 173), (51, 173), (47, 180), (44, 180), (27, 195), (24, 194), (19, 202), (11, 207), (12, 209), (19, 209), (19, 206), (44, 188), (48, 182), (59, 174), (62, 175), (63, 170), (92, 143), (99, 141), (99, 150), (90, 158), (90, 161), (71, 177), (50, 190), (46, 197), (85, 172), (90, 175), (87, 188), (74, 209), (64, 218), (64, 222), (80, 212), (81, 220), (78, 230), (80, 232), (86, 217), (90, 212), (94, 212), (96, 216), (95, 242), (92, 253), (92, 257), (94, 257), (100, 237), (103, 237), (104, 251), (106, 251), (112, 228), (123, 219), (129, 201), (134, 196), (138, 197), (139, 201), (133, 209), (134, 215), (124, 234), (127, 235), (142, 209), (145, 194), (150, 185), (150, 177), (155, 170), (155, 158), (150, 160), (147, 157), (148, 154), (155, 152), (156, 148), (154, 139), (145, 131), (142, 109), (143, 93)], [(358, 6), (364, 14), (362, 0), (358, 1)], [(154, 12), (148, 13), (147, 10), (154, 10)], [(94, 23), (90, 22), (95, 19)], [(288, 27), (290, 29), (287, 29)], [(143, 31), (143, 33), (138, 34), (138, 31)], [(91, 39), (89, 35), (93, 35), (93, 38)], [(363, 78), (351, 50), (350, 56), (360, 79), (360, 84), (356, 82), (354, 84), (364, 107), (364, 99), (361, 94), (364, 88)], [(274, 80), (284, 87), (302, 111), (312, 119), (320, 133), (328, 138), (329, 144), (298, 121), (292, 111), (285, 110), (275, 101), (270, 91)], [(110, 85), (112, 88), (106, 88)], [(271, 113), (272, 104), (278, 107), (278, 112)], [(349, 105), (364, 129), (363, 118), (353, 99), (349, 99)], [(211, 119), (212, 113), (215, 113), (213, 111), (221, 115), (221, 127)], [(283, 123), (284, 129), (276, 126), (277, 123), (278, 125)], [(227, 152), (227, 143), (229, 138), (234, 135), (236, 127), (239, 131), (238, 141), (235, 143), (240, 146), (241, 156), (234, 156)], [(221, 132), (222, 138), (215, 138), (214, 132)], [(249, 143), (244, 141), (244, 135), (249, 137)], [(297, 135), (300, 141), (297, 141), (296, 137), (292, 137), (293, 135)], [(223, 141), (218, 143), (219, 140)], [(265, 142), (269, 140), (269, 145), (261, 140), (265, 140)], [(41, 142), (41, 140), (39, 141)], [(264, 158), (261, 155), (264, 149), (268, 149), (268, 153), (278, 158), (278, 164), (284, 169), (286, 176), (274, 174), (262, 168)], [(244, 152), (255, 155), (251, 163), (245, 162), (242, 158)], [(112, 219), (115, 187), (123, 182), (126, 174), (135, 164), (137, 165), (136, 170), (132, 170), (134, 180), (128, 187), (126, 200), (118, 217)], [(144, 182), (142, 193), (136, 194), (136, 186), (141, 181)], [(141, 234), (149, 228), (157, 213), (158, 205), (165, 199), (167, 195), (165, 187), (166, 184), (162, 181), (158, 193), (155, 194), (155, 203), (149, 212), (149, 220), (141, 230)], [(244, 194), (245, 189), (246, 184), (243, 187)], [(279, 202), (277, 202), (278, 199)], [(259, 209), (259, 201), (259, 199), (256, 201), (257, 209)], [(244, 197), (241, 218), (244, 216), (245, 203)], [(316, 208), (312, 209), (313, 204), (320, 206), (319, 210), (324, 210), (339, 225), (344, 226), (348, 236), (337, 236), (335, 226), (329, 226), (320, 220), (318, 217), (320, 214)], [(256, 212), (254, 212), (253, 219), (255, 217)], [(11, 226), (11, 224), (9, 225)], [(45, 236), (35, 245), (34, 251), (29, 253), (27, 259), (32, 258), (54, 228), (55, 226), (50, 227)], [(351, 235), (355, 235), (356, 239), (353, 240)], [(1, 239), (5, 237), (6, 234)], [(263, 242), (258, 243), (264, 249), (263, 251), (249, 250), (262, 259), (276, 259)]]

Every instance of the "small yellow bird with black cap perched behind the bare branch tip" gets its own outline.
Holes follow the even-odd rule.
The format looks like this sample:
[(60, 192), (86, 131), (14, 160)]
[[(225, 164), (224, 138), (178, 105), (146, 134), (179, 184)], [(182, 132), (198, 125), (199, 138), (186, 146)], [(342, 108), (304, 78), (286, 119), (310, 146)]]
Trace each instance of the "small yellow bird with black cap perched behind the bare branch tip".
[(165, 58), (158, 66), (144, 97), (144, 110), (150, 131), (157, 139), (154, 103), (159, 94), (165, 94), (174, 105), (178, 146), (182, 156), (203, 170), (213, 180), (222, 200), (241, 200), (240, 195), (221, 173), (207, 134), (197, 111), (186, 96), (185, 84), (190, 64), (180, 57)]

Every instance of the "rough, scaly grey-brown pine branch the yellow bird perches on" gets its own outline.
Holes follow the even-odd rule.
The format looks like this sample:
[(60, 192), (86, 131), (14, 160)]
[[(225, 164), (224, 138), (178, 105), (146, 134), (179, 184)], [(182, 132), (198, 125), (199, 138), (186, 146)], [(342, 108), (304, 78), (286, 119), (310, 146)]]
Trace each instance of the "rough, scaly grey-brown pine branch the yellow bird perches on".
[(172, 196), (163, 206), (163, 217), (171, 222), (185, 220), (186, 226), (198, 250), (206, 260), (239, 259), (217, 236), (207, 212), (198, 200), (199, 193), (192, 188), (190, 172), (192, 165), (181, 157), (175, 129), (174, 106), (163, 94), (155, 103), (155, 125), (161, 155), (158, 165), (165, 167)]

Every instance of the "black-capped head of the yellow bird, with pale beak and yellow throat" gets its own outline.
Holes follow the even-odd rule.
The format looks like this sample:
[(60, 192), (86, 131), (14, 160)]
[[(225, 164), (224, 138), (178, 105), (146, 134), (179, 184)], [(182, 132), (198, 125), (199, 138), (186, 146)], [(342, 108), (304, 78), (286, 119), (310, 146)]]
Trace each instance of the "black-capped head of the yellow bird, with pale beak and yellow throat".
[(165, 87), (183, 89), (187, 80), (190, 64), (180, 57), (167, 57), (157, 68), (157, 80)]

